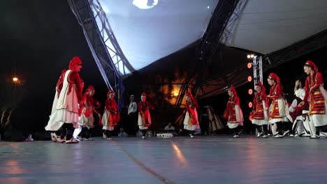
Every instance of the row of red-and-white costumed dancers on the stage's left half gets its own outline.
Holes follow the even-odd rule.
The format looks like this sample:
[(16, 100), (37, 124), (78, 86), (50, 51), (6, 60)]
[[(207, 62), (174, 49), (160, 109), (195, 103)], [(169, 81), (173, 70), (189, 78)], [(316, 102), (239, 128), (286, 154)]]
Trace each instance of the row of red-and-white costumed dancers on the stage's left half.
[[(52, 112), (45, 130), (51, 132), (52, 141), (66, 144), (75, 144), (79, 140), (92, 141), (91, 130), (94, 128), (94, 115), (99, 116), (99, 124), (102, 125), (103, 138), (112, 139), (112, 131), (119, 122), (118, 105), (115, 101), (115, 92), (109, 90), (107, 93), (106, 106), (103, 115), (99, 112), (101, 103), (94, 100), (93, 95), (95, 89), (88, 86), (84, 95), (82, 89), (84, 82), (80, 79), (80, 70), (82, 61), (78, 56), (71, 59), (68, 70), (62, 70), (56, 85), (56, 93), (52, 104)], [(142, 138), (145, 139), (145, 133), (151, 125), (150, 109), (154, 109), (150, 102), (147, 102), (147, 94), (142, 93), (141, 101), (133, 102), (131, 96), (131, 104), (129, 105), (128, 115), (131, 119), (136, 118), (138, 110), (138, 128), (143, 133)], [(75, 128), (81, 127), (82, 130), (78, 135), (78, 139), (73, 137)]]

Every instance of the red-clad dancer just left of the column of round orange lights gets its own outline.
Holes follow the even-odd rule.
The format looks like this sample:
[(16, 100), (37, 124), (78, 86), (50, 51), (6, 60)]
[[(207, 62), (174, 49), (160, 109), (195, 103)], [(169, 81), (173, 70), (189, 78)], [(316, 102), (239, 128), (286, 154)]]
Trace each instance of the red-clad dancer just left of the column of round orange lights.
[(224, 118), (227, 119), (228, 128), (233, 130), (233, 138), (239, 137), (240, 126), (243, 125), (243, 113), (240, 108), (240, 98), (234, 86), (231, 86), (228, 90), (228, 102), (224, 112)]

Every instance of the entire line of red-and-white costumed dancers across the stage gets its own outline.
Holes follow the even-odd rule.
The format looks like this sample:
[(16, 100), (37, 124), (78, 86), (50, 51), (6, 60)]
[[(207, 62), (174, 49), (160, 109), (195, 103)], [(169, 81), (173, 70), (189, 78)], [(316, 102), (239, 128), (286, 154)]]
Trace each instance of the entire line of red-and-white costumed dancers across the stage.
[[(91, 141), (91, 130), (94, 128), (94, 115), (99, 116), (99, 124), (102, 125), (103, 138), (112, 139), (112, 131), (119, 122), (120, 114), (115, 101), (115, 92), (109, 90), (103, 114), (99, 112), (101, 103), (94, 100), (95, 89), (88, 86), (84, 95), (82, 89), (84, 82), (80, 79), (79, 72), (82, 68), (82, 61), (78, 56), (71, 59), (68, 70), (63, 70), (56, 85), (56, 93), (52, 105), (50, 120), (45, 130), (51, 132), (52, 141), (59, 143), (78, 143), (78, 139)], [(326, 100), (327, 92), (323, 86), (321, 72), (312, 61), (307, 61), (304, 71), (308, 75), (305, 80), (305, 89), (300, 81), (296, 81), (294, 93), (296, 99), (289, 106), (284, 97), (283, 86), (275, 73), (268, 76), (270, 85), (269, 94), (258, 82), (255, 84), (256, 94), (254, 95), (253, 111), (250, 120), (258, 132), (257, 137), (268, 137), (268, 129), (273, 137), (281, 138), (285, 135), (294, 137), (296, 135), (310, 135), (310, 138), (317, 139), (321, 135), (326, 136), (327, 116)], [(233, 86), (228, 90), (228, 102), (224, 111), (224, 118), (227, 120), (228, 128), (233, 130), (233, 137), (239, 137), (240, 127), (243, 125), (243, 114), (240, 108), (240, 98)], [(186, 95), (186, 113), (184, 117), (184, 130), (194, 138), (194, 131), (199, 130), (198, 102), (191, 93)], [(140, 102), (134, 102), (131, 95), (131, 102), (128, 108), (129, 122), (137, 122), (142, 132), (142, 138), (152, 123), (150, 110), (154, 109), (147, 101), (147, 94), (142, 93)], [(213, 117), (213, 116), (212, 116)], [(213, 118), (212, 118), (213, 119)], [(75, 128), (82, 130), (78, 139), (73, 137)], [(219, 128), (222, 125), (215, 125)]]

